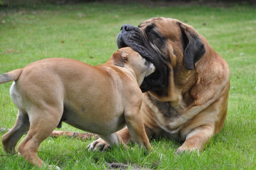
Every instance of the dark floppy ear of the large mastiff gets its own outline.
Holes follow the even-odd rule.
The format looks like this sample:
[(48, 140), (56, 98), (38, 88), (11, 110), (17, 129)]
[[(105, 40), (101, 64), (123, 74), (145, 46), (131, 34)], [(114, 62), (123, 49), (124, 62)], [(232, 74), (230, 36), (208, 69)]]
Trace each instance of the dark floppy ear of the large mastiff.
[(193, 27), (189, 27), (183, 23), (179, 24), (185, 44), (184, 65), (188, 70), (193, 70), (196, 61), (200, 60), (205, 53), (204, 43)]

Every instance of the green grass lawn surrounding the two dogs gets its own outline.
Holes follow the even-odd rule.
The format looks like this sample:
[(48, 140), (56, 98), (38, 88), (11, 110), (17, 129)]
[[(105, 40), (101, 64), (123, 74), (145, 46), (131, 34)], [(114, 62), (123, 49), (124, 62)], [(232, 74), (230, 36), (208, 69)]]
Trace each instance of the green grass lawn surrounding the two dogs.
[[(89, 152), (92, 140), (48, 138), (39, 156), (62, 169), (105, 169), (119, 162), (149, 169), (254, 169), (256, 167), (256, 10), (254, 6), (142, 6), (85, 3), (17, 7), (0, 11), (0, 73), (48, 57), (74, 58), (91, 65), (104, 63), (117, 50), (123, 24), (138, 25), (151, 17), (171, 17), (196, 28), (230, 66), (231, 89), (223, 131), (196, 154), (175, 155), (180, 143), (151, 140), (156, 153), (114, 147)], [(4, 21), (5, 23), (3, 23)], [(171, 28), (170, 28), (171, 29)], [(0, 85), (0, 126), (14, 125), (17, 108), (11, 83)], [(61, 130), (79, 129), (63, 124)], [(3, 134), (0, 134), (2, 136)], [(0, 155), (5, 155), (0, 146)], [(38, 169), (22, 157), (0, 156), (0, 169)]]

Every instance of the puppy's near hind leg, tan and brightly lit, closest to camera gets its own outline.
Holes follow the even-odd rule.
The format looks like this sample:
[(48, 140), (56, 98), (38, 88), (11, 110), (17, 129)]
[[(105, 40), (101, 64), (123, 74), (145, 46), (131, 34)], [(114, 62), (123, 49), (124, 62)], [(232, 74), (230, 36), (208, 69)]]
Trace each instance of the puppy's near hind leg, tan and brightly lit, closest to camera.
[(40, 109), (33, 108), (31, 110), (33, 110), (33, 113), (28, 112), (30, 120), (29, 132), (18, 145), (18, 151), (29, 163), (42, 167), (43, 161), (37, 155), (39, 145), (51, 135), (59, 124), (63, 106), (52, 107), (46, 105), (45, 107), (41, 106)]

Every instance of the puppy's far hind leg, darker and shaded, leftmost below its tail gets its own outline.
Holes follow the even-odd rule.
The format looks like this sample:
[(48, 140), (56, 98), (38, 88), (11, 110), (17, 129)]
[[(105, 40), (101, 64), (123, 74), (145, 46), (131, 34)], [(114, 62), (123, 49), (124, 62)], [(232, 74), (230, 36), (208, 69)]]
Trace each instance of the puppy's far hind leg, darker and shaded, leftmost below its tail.
[(27, 131), (29, 131), (29, 116), (27, 113), (19, 110), (16, 123), (9, 132), (2, 136), (1, 140), (4, 151), (9, 153), (17, 152), (15, 146)]

